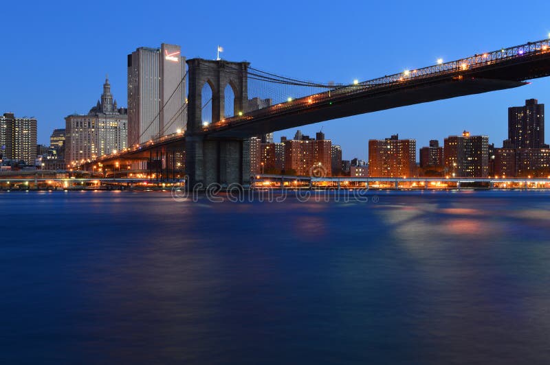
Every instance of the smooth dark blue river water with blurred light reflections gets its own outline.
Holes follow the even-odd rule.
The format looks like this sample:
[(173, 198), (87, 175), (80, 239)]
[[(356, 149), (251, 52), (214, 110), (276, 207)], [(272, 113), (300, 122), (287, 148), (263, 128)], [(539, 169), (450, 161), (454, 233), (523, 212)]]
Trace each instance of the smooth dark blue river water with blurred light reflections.
[(0, 193), (0, 362), (547, 364), (550, 193), (378, 194)]

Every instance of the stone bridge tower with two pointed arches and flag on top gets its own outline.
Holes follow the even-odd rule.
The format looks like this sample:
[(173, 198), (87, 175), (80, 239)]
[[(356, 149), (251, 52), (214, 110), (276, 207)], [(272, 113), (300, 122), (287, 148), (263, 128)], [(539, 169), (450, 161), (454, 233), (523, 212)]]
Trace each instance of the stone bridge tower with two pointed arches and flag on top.
[(209, 139), (203, 133), (202, 100), (205, 84), (212, 89), (212, 123), (225, 117), (225, 87), (234, 93), (234, 114), (245, 112), (248, 102), (248, 62), (203, 60), (193, 58), (188, 64), (188, 121), (186, 130), (186, 174), (188, 187), (202, 188), (212, 183), (227, 186), (239, 183), (250, 185), (250, 140)]

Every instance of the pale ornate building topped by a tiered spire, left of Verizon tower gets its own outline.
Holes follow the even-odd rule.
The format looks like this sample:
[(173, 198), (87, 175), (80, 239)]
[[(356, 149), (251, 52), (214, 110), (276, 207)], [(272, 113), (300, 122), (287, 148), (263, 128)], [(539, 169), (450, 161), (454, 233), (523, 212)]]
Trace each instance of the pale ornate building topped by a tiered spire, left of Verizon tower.
[(86, 115), (65, 117), (65, 162), (93, 160), (113, 150), (120, 151), (128, 143), (128, 115), (125, 108), (117, 108), (111, 95), (109, 80), (103, 84), (98, 104)]

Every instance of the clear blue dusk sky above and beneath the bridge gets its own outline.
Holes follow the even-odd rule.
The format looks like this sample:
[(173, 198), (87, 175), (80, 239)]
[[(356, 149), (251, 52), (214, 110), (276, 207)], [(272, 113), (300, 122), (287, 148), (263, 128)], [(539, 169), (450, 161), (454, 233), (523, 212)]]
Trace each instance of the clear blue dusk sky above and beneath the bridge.
[[(126, 55), (140, 46), (181, 45), (187, 58), (227, 60), (327, 82), (368, 80), (547, 38), (550, 2), (483, 1), (9, 1), (2, 5), (0, 112), (39, 120), (47, 143), (64, 117), (87, 113), (109, 73), (126, 106)], [(366, 158), (369, 139), (399, 133), (430, 139), (470, 130), (500, 146), (507, 107), (531, 97), (550, 104), (550, 79), (300, 128), (342, 145), (344, 158)], [(549, 130), (550, 128), (547, 128)], [(276, 133), (294, 135), (295, 130)], [(547, 132), (547, 141), (549, 139)]]

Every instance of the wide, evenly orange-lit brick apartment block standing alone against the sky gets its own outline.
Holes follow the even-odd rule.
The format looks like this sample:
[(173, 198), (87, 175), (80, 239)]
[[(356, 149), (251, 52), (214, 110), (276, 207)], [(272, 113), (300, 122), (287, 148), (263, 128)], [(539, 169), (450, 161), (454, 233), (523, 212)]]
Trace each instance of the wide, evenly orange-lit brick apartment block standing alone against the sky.
[(415, 139), (399, 139), (399, 134), (369, 140), (369, 176), (416, 176), (416, 148)]

